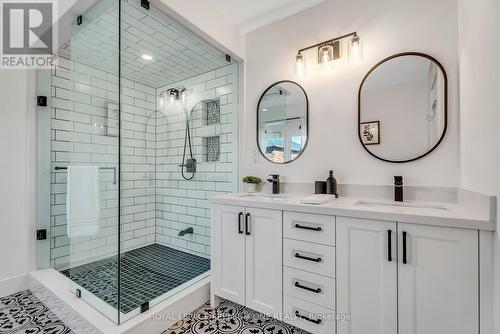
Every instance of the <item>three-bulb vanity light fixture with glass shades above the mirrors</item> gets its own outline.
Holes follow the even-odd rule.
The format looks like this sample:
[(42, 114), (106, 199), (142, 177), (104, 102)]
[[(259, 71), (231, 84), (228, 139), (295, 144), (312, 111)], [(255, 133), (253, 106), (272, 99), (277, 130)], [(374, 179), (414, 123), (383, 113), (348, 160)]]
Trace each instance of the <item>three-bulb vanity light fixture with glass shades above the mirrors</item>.
[(313, 48), (318, 49), (318, 64), (321, 69), (333, 67), (333, 62), (341, 58), (340, 41), (349, 37), (349, 57), (359, 59), (361, 57), (361, 39), (356, 32), (352, 32), (300, 49), (295, 56), (295, 73), (298, 76), (305, 74), (306, 64), (303, 52)]

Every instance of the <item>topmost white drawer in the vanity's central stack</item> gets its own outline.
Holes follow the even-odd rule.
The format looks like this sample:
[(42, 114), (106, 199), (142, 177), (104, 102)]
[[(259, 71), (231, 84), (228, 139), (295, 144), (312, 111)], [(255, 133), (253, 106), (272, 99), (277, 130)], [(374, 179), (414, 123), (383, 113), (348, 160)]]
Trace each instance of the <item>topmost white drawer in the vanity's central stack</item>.
[(335, 216), (285, 211), (283, 234), (290, 239), (335, 246)]

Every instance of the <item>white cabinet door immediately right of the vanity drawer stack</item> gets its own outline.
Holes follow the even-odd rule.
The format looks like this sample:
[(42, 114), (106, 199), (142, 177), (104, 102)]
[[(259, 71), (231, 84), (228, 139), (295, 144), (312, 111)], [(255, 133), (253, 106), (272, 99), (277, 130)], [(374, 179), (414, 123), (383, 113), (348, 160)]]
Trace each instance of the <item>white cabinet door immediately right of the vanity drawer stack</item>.
[(337, 217), (338, 333), (397, 333), (396, 238), (394, 222)]

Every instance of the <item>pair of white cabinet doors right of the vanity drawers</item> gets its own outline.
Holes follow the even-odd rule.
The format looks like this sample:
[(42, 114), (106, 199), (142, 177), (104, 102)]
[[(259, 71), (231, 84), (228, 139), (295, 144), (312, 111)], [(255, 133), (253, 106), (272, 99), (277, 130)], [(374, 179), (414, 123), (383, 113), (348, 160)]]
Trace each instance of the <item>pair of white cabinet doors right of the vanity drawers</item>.
[(478, 231), (337, 217), (338, 333), (478, 333), (478, 271)]

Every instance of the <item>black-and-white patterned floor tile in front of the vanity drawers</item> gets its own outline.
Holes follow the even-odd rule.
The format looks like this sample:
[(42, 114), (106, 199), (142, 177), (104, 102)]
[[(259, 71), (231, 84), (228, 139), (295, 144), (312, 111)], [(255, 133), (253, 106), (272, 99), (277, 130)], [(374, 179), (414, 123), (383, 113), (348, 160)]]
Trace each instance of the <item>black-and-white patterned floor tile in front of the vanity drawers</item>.
[(207, 302), (162, 334), (308, 334), (244, 306), (223, 301), (213, 309)]

